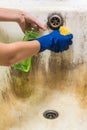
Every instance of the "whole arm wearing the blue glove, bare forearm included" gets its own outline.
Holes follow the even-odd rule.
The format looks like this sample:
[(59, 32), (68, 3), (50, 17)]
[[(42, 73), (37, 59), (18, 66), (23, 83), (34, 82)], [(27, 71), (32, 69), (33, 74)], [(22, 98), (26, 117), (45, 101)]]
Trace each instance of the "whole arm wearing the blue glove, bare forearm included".
[(72, 44), (72, 38), (71, 33), (64, 36), (58, 30), (55, 30), (32, 41), (0, 43), (0, 65), (10, 66), (46, 49), (56, 53), (63, 52)]

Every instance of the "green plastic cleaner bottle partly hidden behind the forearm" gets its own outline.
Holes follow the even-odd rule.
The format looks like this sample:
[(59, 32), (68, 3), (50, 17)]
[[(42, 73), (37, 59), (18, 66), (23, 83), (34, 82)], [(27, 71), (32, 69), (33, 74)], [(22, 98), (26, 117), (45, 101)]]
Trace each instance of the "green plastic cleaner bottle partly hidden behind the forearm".
[[(29, 41), (29, 40), (35, 39), (37, 37), (38, 37), (38, 31), (30, 30), (30, 31), (25, 32), (25, 36), (23, 38), (23, 41)], [(32, 61), (32, 58), (28, 58), (25, 61), (14, 64), (13, 67), (15, 69), (21, 70), (23, 72), (28, 72), (30, 70), (30, 67), (31, 67), (31, 61)]]

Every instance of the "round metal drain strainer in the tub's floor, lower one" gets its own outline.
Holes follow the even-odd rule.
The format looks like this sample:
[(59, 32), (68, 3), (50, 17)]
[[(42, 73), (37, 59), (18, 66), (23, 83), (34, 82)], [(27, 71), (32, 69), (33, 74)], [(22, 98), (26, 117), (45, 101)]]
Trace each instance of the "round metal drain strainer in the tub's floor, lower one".
[(43, 116), (47, 119), (55, 119), (59, 116), (57, 111), (54, 110), (47, 110), (43, 113)]

